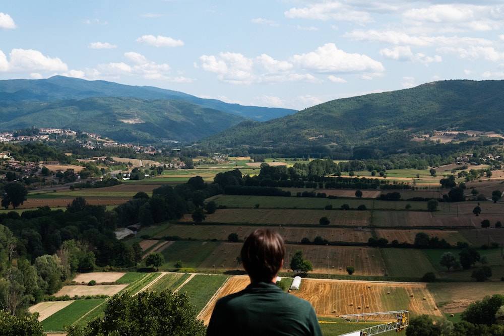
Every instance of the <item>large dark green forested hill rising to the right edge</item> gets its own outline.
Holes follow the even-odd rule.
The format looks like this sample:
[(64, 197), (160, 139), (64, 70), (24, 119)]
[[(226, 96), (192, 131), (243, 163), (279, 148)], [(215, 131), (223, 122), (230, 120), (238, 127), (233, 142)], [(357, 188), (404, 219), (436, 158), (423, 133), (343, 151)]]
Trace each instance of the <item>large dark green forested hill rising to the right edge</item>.
[(414, 132), (504, 131), (504, 81), (452, 80), (337, 99), (263, 123), (245, 121), (204, 141), (221, 147), (380, 147)]

